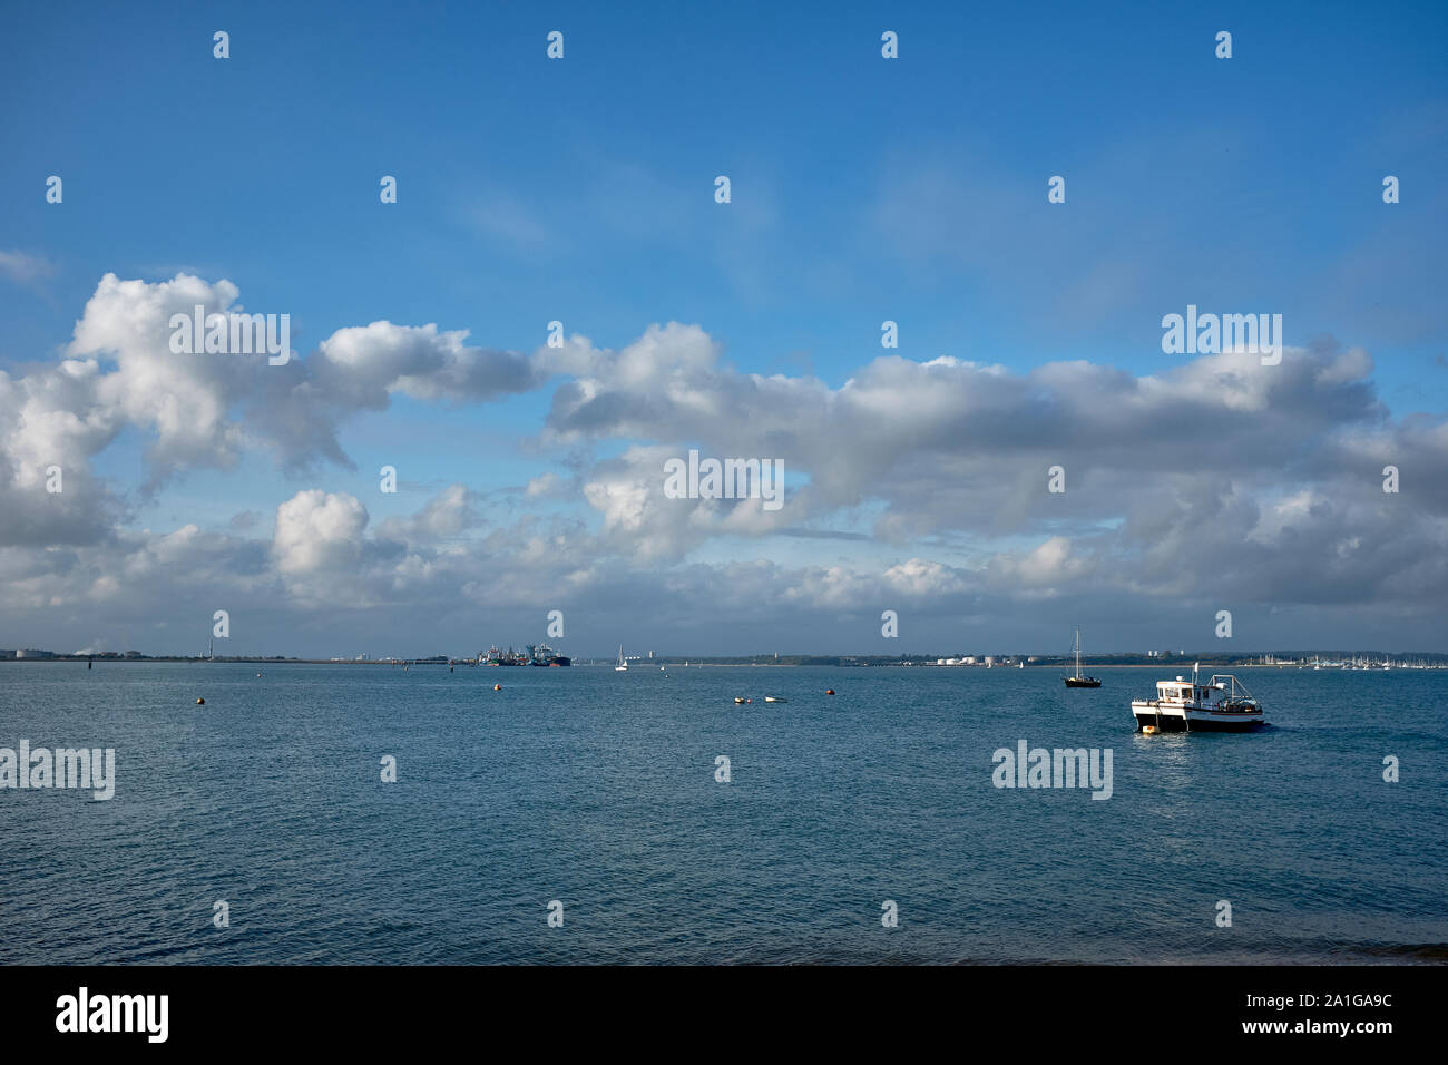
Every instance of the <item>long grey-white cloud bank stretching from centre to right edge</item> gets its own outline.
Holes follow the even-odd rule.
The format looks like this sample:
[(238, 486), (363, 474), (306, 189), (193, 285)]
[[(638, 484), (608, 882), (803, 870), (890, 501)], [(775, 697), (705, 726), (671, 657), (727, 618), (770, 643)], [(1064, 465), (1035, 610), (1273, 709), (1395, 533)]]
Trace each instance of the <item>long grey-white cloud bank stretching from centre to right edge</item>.
[[(840, 387), (738, 372), (721, 355), (698, 326), (670, 323), (618, 352), (582, 341), (553, 356), (575, 380), (555, 393), (546, 436), (637, 442), (598, 461), (584, 494), (605, 535), (656, 562), (718, 536), (869, 516), (877, 542), (969, 551), (988, 587), (1021, 596), (1211, 585), (1251, 601), (1394, 597), (1422, 610), (1445, 590), (1448, 423), (1390, 419), (1363, 349), (1293, 348), (1276, 367), (1228, 352), (1142, 377), (880, 356)], [(796, 478), (788, 506), (770, 516), (663, 498), (662, 459), (688, 446), (782, 459)], [(1389, 464), (1412, 471), (1410, 497), (1381, 491)], [(1054, 465), (1064, 494), (1047, 491)], [(1283, 509), (1305, 488), (1313, 507)], [(1002, 538), (1024, 543), (982, 549)], [(1302, 554), (1309, 545), (1321, 556)], [(1418, 591), (1392, 580), (1405, 568)]]

